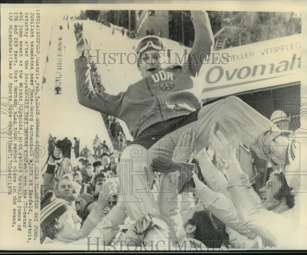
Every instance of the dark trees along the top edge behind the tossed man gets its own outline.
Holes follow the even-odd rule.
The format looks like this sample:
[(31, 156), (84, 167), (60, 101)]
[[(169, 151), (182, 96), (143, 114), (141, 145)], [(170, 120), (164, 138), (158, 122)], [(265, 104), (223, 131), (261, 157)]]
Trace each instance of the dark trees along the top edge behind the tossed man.
[[(169, 39), (192, 46), (194, 28), (190, 11), (169, 11)], [(301, 33), (301, 14), (293, 12), (241, 12), (208, 11), (213, 34), (223, 27), (240, 28), (242, 33), (228, 40), (225, 48), (261, 42), (274, 38)], [(86, 10), (81, 11), (79, 19), (106, 21), (117, 26), (129, 28), (128, 10)], [(136, 26), (135, 11), (130, 11), (130, 29)], [(154, 26), (154, 25), (153, 25)], [(240, 38), (239, 38), (240, 37)]]

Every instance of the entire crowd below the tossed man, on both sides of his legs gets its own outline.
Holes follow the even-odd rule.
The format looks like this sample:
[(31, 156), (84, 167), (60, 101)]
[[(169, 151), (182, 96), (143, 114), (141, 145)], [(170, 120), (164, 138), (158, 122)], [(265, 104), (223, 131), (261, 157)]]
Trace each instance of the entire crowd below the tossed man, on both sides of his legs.
[[(195, 133), (192, 135), (191, 131), (186, 133), (189, 133), (187, 143), (192, 146), (195, 142), (195, 139), (193, 141)], [(210, 135), (213, 137), (210, 147), (213, 153), (206, 148), (189, 160), (195, 165), (195, 170), (192, 182), (190, 180), (185, 187), (189, 192), (192, 191), (194, 200), (188, 206), (185, 205), (185, 211), (179, 209), (184, 229), (181, 241), (186, 238), (191, 243), (200, 245), (202, 249), (204, 247), (242, 249), (284, 247), (289, 233), (296, 236), (295, 227), (299, 223), (294, 210), (297, 206), (295, 193), (292, 193), (292, 190), (297, 188), (296, 178), (287, 177), (284, 171), (281, 171), (281, 166), (273, 164), (268, 169), (265, 184), (256, 191), (248, 170), (242, 168), (246, 157), (240, 155), (233, 142), (227, 141), (220, 131)], [(51, 135), (49, 140), (54, 141)], [(131, 221), (123, 203), (119, 205), (117, 203), (119, 188), (117, 164), (111, 162), (112, 157), (110, 158), (107, 152), (108, 146), (105, 145), (105, 141), (101, 144), (104, 152), (98, 160), (90, 163), (86, 157), (80, 157), (77, 159), (78, 165), (74, 167), (69, 164), (68, 157), (62, 157), (62, 151), (56, 146), (51, 150), (48, 168), (44, 174), (45, 200), (41, 209), (42, 213), (46, 214), (44, 208), (50, 207), (49, 204), (54, 203), (60, 207), (56, 207), (54, 211), (52, 209), (47, 216), (42, 214), (46, 218), (41, 221), (42, 243), (84, 244), (86, 243), (84, 237), (92, 237), (90, 233), (93, 231), (100, 233), (105, 241), (123, 239), (134, 240), (134, 243), (139, 245), (144, 244), (142, 241), (144, 233), (138, 232), (140, 223)], [(219, 158), (219, 155), (223, 154), (220, 153), (221, 144), (227, 151), (227, 159)], [(181, 145), (180, 141), (178, 145)], [(211, 153), (213, 156), (209, 155)], [(61, 164), (66, 161), (68, 163), (56, 167), (60, 160)], [(61, 170), (56, 169), (66, 169), (66, 167), (69, 169), (67, 173), (57, 173)], [(174, 166), (170, 164), (168, 167)], [(286, 169), (292, 171), (297, 171), (297, 167), (294, 162), (286, 165)], [(153, 171), (157, 170), (153, 164), (151, 168)], [(157, 183), (162, 185), (165, 177), (162, 177), (161, 173), (158, 176), (160, 181)], [(168, 174), (165, 176), (169, 177)], [(178, 176), (180, 179), (180, 173)], [(170, 177), (170, 179), (176, 181), (176, 178)], [(159, 185), (153, 187), (152, 192), (157, 192)], [(69, 226), (64, 223), (67, 217), (72, 219)], [(145, 221), (145, 218), (143, 220)], [(161, 226), (161, 229), (167, 228), (163, 223), (156, 225)], [(66, 228), (75, 232), (69, 238), (65, 235)], [(158, 240), (160, 239), (155, 241)]]

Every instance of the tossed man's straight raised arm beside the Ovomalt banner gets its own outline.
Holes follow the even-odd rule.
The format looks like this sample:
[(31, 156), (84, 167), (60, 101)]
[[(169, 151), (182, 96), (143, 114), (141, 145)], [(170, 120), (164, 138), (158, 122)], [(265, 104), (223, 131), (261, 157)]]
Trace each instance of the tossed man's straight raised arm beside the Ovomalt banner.
[(184, 65), (184, 68), (187, 68), (191, 75), (195, 77), (196, 73), (199, 73), (202, 63), (206, 63), (206, 59), (210, 57), (214, 37), (206, 12), (191, 11), (191, 20), (194, 25), (195, 38), (189, 54), (188, 65)]

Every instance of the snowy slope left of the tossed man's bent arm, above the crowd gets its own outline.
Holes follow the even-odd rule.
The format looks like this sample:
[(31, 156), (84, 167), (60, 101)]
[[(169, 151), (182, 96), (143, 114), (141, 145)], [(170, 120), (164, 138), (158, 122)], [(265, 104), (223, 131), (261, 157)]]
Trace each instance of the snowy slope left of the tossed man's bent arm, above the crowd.
[[(60, 24), (62, 24), (63, 30), (59, 29)], [(68, 30), (66, 21), (62, 20), (56, 21), (52, 30), (49, 62), (47, 62), (45, 72), (46, 83), (43, 83), (41, 96), (43, 99), (41, 103), (41, 145), (47, 149), (49, 133), (57, 139), (68, 137), (73, 144), (73, 137), (76, 136), (80, 139), (80, 150), (87, 145), (94, 152), (92, 142), (96, 134), (102, 141), (106, 140), (108, 145), (111, 145), (111, 140), (101, 114), (81, 106), (78, 102), (74, 66), (76, 38), (73, 31), (73, 24), (70, 24)], [(60, 36), (63, 38), (62, 94), (56, 95), (54, 94), (57, 70), (56, 52)], [(72, 153), (71, 159), (74, 163), (74, 153)]]

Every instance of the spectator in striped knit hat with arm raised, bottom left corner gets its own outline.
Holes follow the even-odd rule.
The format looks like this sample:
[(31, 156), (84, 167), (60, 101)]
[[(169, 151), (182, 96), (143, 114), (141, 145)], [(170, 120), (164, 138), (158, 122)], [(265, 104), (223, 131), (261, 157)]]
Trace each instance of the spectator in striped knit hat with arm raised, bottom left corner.
[[(81, 218), (72, 209), (67, 200), (56, 197), (53, 191), (47, 191), (41, 201), (41, 243), (43, 244), (76, 244), (87, 245), (87, 236), (101, 236), (106, 241), (114, 239), (119, 231), (119, 225), (126, 218), (121, 208), (113, 209), (111, 215), (102, 220), (103, 210), (113, 195), (113, 186), (108, 183), (103, 186), (95, 207), (80, 228)], [(115, 222), (115, 219), (117, 222)], [(100, 223), (99, 223), (100, 222)], [(99, 223), (99, 226), (97, 224)]]

